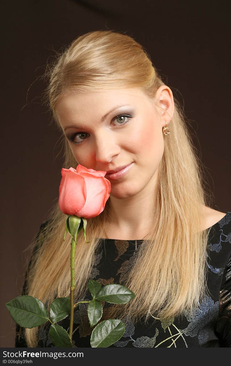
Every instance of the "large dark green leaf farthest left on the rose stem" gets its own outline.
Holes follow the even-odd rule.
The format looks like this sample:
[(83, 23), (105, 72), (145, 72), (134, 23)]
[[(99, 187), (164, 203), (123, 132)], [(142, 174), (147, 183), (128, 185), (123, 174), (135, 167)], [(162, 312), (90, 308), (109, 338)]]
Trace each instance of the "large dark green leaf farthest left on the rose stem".
[(48, 311), (42, 301), (33, 296), (18, 296), (5, 304), (5, 306), (14, 321), (23, 328), (34, 328), (49, 320)]

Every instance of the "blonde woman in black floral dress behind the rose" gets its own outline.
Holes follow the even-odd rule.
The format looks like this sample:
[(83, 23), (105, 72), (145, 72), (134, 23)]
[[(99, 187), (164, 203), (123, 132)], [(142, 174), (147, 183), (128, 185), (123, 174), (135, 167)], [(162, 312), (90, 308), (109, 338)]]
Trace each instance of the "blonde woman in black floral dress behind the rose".
[[(209, 207), (185, 117), (134, 39), (113, 31), (78, 37), (48, 69), (47, 102), (65, 143), (63, 167), (107, 171), (111, 194), (76, 246), (75, 302), (87, 283), (120, 283), (126, 305), (103, 320), (126, 333), (111, 347), (231, 347), (231, 212)], [(115, 173), (117, 171), (117, 173)], [(57, 203), (31, 246), (23, 294), (46, 306), (69, 296), (70, 236)], [(73, 340), (90, 347), (85, 304)], [(69, 319), (60, 324), (68, 330)], [(16, 347), (52, 347), (49, 324), (17, 326)]]

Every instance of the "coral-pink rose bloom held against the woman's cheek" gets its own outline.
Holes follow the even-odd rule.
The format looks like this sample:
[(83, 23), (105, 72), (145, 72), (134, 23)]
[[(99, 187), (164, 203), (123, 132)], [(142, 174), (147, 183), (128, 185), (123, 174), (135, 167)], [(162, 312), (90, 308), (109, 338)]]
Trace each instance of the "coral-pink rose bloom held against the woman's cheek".
[(59, 208), (67, 215), (78, 217), (98, 216), (111, 193), (111, 183), (104, 178), (107, 172), (77, 168), (62, 168), (59, 186)]

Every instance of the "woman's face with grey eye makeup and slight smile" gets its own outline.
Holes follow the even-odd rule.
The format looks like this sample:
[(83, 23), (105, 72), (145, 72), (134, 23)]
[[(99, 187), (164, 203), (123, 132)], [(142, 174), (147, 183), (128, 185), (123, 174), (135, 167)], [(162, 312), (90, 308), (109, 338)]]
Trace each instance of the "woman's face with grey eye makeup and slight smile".
[[(171, 91), (161, 93), (162, 89), (156, 96), (166, 109)], [(153, 190), (163, 156), (166, 116), (140, 89), (69, 93), (55, 110), (78, 164), (108, 171), (132, 163), (118, 179), (105, 176), (111, 182), (112, 196), (125, 199), (147, 187)]]

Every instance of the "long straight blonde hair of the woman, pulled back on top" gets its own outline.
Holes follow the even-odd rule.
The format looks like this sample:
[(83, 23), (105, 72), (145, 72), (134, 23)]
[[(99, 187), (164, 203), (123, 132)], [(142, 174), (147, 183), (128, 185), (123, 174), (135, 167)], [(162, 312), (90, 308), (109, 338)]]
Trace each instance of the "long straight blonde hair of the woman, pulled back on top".
[[(165, 85), (143, 47), (126, 34), (111, 30), (86, 33), (55, 57), (47, 67), (49, 84), (45, 101), (55, 114), (55, 105), (64, 93), (109, 88), (139, 87), (147, 97), (155, 96)], [(161, 318), (182, 315), (198, 306), (208, 290), (206, 250), (208, 229), (201, 231), (203, 207), (209, 206), (204, 176), (186, 127), (186, 117), (174, 97), (175, 109), (170, 134), (164, 139), (159, 166), (157, 207), (153, 234), (140, 246), (138, 257), (123, 285), (135, 293), (135, 299), (112, 307), (114, 317), (136, 321), (151, 314)], [(61, 129), (61, 128), (60, 128)], [(64, 167), (76, 168), (69, 143), (63, 135)], [(110, 198), (104, 211), (88, 219), (86, 244), (78, 235), (75, 258), (74, 297), (84, 298), (102, 227), (110, 217)], [(58, 207), (58, 198), (50, 210), (49, 222), (36, 238), (38, 249), (32, 256), (25, 293), (46, 306), (56, 297), (70, 295), (70, 235), (63, 242), (66, 215)], [(30, 248), (35, 246), (35, 240)], [(36, 347), (38, 327), (25, 329), (28, 347)]]

